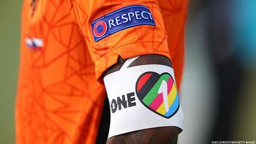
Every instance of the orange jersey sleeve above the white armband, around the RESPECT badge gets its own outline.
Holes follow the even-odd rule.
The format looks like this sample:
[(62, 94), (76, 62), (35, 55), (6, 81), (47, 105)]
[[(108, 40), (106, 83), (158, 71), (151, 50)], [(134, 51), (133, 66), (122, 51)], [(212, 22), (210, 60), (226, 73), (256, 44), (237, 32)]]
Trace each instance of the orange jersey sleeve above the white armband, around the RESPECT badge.
[[(114, 13), (116, 10), (122, 10), (127, 6), (145, 6), (148, 8), (155, 26), (141, 24), (140, 26), (132, 26), (131, 28), (124, 28), (113, 35), (108, 35), (101, 40), (95, 42), (93, 38), (94, 32), (92, 22), (100, 17), (106, 17)], [(170, 58), (167, 34), (164, 29), (163, 15), (159, 8), (158, 1), (152, 0), (138, 0), (138, 1), (74, 1), (72, 3), (74, 17), (82, 29), (90, 54), (93, 61), (95, 61), (95, 71), (97, 79), (102, 72), (115, 64), (118, 56), (122, 58), (131, 58), (133, 56), (143, 54), (162, 54)], [(139, 12), (140, 10), (138, 10)], [(143, 11), (143, 10), (141, 10)], [(131, 12), (127, 10), (128, 13)], [(123, 14), (123, 15), (122, 15)], [(120, 17), (124, 16), (125, 12), (121, 12)], [(141, 14), (141, 13), (140, 13)], [(115, 13), (112, 17), (116, 21)], [(132, 16), (132, 14), (131, 14)], [(150, 15), (142, 13), (142, 16), (149, 18)], [(135, 16), (134, 16), (135, 17)], [(129, 17), (127, 17), (129, 19)], [(138, 17), (139, 19), (143, 17)], [(118, 20), (118, 19), (117, 19)], [(134, 19), (136, 20), (136, 19)], [(111, 24), (106, 20), (106, 27), (109, 29)], [(125, 22), (126, 20), (120, 20)], [(112, 24), (115, 26), (116, 22)], [(125, 24), (120, 24), (124, 27)], [(106, 32), (108, 33), (108, 31)]]

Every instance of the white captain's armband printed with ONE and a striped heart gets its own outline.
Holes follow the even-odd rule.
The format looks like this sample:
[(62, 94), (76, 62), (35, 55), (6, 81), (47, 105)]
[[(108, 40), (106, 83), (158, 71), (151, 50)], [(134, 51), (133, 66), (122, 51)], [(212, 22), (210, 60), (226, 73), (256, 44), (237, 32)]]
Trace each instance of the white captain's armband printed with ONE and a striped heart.
[(182, 129), (184, 116), (173, 68), (156, 64), (128, 67), (136, 58), (104, 77), (111, 111), (108, 138), (154, 127)]

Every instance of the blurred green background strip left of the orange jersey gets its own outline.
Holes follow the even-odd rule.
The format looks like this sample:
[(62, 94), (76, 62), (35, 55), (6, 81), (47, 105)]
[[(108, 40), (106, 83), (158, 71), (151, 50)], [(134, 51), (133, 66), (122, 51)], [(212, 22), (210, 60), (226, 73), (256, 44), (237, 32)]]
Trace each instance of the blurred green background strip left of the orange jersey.
[(0, 143), (15, 142), (14, 108), (19, 69), (20, 10), (22, 1), (0, 4)]

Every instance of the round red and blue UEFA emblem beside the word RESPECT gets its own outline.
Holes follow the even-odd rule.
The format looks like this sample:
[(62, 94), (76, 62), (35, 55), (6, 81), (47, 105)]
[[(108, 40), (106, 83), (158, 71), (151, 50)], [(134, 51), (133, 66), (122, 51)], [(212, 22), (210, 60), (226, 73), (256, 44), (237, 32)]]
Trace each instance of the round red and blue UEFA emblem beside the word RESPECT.
[(99, 20), (98, 22), (96, 22), (95, 26), (93, 27), (93, 33), (98, 38), (105, 35), (107, 30), (108, 30), (108, 26), (106, 22), (104, 22), (104, 20)]

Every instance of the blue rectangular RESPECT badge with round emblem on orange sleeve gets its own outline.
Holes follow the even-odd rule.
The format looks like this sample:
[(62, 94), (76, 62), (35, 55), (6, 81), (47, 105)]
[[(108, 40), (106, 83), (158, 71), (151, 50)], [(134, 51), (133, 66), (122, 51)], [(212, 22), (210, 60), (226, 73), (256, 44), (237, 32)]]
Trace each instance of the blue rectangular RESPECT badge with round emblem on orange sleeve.
[(113, 33), (132, 26), (156, 26), (152, 13), (146, 6), (132, 5), (104, 15), (92, 22), (93, 38), (98, 42)]

